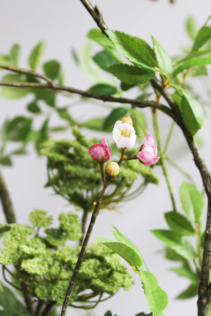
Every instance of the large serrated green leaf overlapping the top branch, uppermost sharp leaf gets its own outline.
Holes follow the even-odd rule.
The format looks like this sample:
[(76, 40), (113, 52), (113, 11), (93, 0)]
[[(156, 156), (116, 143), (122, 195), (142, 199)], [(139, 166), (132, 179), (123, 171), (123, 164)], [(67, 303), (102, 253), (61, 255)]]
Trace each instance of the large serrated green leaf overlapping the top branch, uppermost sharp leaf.
[(106, 33), (115, 46), (133, 64), (155, 66), (155, 62), (151, 56), (152, 54), (154, 57), (153, 50), (144, 40), (119, 31), (106, 31)]

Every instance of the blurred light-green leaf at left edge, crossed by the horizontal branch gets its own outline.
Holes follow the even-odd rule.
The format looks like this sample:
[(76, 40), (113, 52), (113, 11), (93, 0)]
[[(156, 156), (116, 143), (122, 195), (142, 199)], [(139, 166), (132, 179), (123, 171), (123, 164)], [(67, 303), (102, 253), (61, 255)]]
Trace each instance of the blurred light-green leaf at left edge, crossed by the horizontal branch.
[[(25, 76), (21, 74), (8, 74), (2, 78), (3, 82), (25, 82)], [(1, 96), (7, 99), (18, 99), (30, 92), (30, 88), (17, 88), (4, 86), (1, 89)]]

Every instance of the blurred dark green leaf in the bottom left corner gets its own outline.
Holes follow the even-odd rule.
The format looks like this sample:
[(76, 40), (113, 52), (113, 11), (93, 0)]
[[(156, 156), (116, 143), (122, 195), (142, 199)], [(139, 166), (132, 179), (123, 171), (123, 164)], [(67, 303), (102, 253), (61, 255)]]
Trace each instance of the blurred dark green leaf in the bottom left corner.
[(0, 316), (30, 316), (26, 307), (23, 307), (3, 283), (1, 283), (0, 305), (3, 307), (3, 310), (0, 310)]

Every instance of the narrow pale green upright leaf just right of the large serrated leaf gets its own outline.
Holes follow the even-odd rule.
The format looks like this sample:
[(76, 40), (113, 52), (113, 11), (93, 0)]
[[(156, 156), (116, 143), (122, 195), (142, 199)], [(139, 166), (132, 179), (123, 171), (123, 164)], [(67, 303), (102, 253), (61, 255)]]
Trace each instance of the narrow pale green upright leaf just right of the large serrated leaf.
[(172, 72), (172, 60), (169, 54), (153, 36), (152, 41), (154, 45), (155, 55), (158, 60), (158, 67), (169, 77)]

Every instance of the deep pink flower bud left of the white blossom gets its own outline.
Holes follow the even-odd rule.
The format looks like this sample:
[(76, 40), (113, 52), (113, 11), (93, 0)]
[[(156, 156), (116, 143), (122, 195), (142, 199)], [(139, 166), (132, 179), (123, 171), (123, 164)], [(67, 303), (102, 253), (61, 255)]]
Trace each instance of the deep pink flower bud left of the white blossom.
[(112, 152), (105, 137), (103, 137), (101, 144), (95, 144), (90, 147), (89, 154), (91, 154), (91, 158), (98, 163), (111, 160)]

